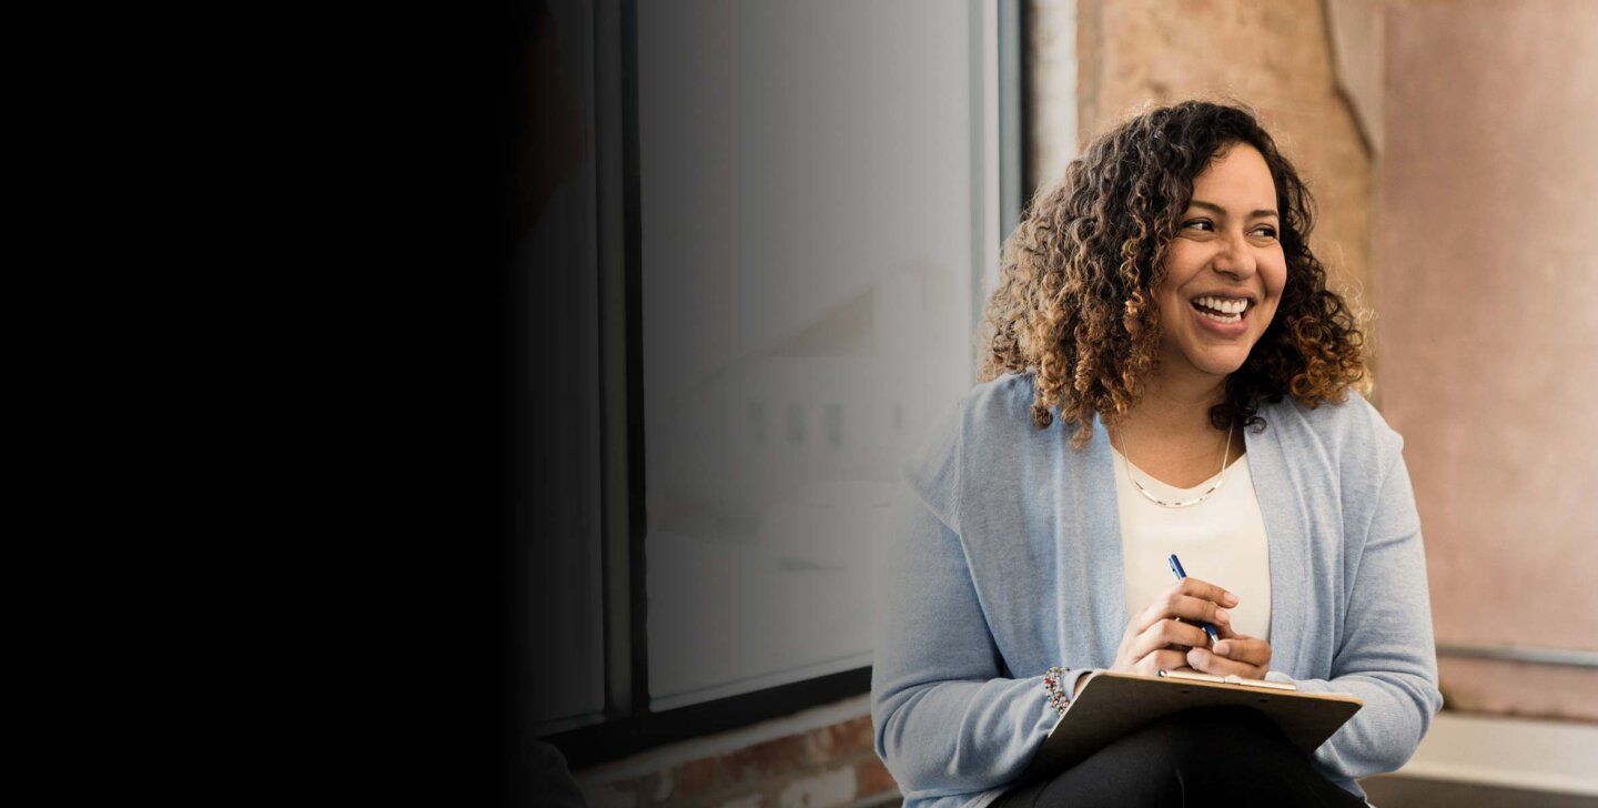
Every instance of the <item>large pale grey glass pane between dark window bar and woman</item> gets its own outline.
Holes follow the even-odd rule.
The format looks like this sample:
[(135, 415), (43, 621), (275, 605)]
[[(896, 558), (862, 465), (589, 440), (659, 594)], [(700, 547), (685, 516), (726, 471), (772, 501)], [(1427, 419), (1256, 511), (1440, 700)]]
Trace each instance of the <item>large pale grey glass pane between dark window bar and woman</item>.
[(869, 664), (888, 493), (973, 378), (972, 8), (639, 3), (655, 709)]

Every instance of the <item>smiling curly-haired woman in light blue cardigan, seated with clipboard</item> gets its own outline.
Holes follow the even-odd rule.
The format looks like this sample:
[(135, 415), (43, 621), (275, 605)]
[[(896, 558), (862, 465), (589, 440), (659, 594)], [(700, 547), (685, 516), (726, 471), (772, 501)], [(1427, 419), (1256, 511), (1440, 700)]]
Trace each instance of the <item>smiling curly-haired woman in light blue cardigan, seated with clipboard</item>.
[[(1310, 227), (1254, 117), (1187, 102), (1095, 141), (1016, 228), (983, 383), (892, 522), (873, 715), (906, 805), (1363, 805), (1419, 744), (1419, 519)], [(1018, 782), (1098, 671), (1365, 707), (1314, 755), (1248, 711), (1178, 714)]]

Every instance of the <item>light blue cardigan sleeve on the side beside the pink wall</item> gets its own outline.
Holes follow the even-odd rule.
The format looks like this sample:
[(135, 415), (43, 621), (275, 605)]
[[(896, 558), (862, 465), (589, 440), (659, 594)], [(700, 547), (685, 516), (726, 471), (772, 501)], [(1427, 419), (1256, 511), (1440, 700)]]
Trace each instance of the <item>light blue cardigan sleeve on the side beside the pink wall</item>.
[[(1393, 454), (1354, 570), (1331, 679), (1298, 680), (1298, 688), (1307, 693), (1349, 693), (1365, 701), (1315, 751), (1317, 766), (1336, 779), (1401, 766), (1443, 706), (1421, 519), (1403, 455)], [(1267, 679), (1291, 682), (1277, 672)]]

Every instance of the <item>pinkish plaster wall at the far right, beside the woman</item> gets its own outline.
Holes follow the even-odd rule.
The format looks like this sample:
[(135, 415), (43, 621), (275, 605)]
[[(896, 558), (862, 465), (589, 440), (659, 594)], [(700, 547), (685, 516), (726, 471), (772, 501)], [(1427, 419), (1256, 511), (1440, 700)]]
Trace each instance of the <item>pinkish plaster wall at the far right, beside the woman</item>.
[[(1437, 640), (1593, 652), (1598, 3), (1384, 13), (1377, 391)], [(1441, 666), (1453, 707), (1598, 720), (1598, 669)]]

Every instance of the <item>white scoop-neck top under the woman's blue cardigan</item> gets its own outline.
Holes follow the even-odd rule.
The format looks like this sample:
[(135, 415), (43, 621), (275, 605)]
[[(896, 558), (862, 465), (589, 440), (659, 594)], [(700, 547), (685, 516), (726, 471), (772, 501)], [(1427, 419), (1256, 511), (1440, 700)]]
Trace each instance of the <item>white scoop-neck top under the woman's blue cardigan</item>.
[[(1208, 500), (1187, 508), (1165, 508), (1131, 487), (1127, 458), (1114, 446), (1111, 452), (1120, 511), (1120, 557), (1127, 573), (1127, 616), (1147, 608), (1176, 583), (1167, 562), (1175, 553), (1187, 575), (1237, 596), (1237, 608), (1229, 610), (1232, 631), (1270, 639), (1270, 549), (1254, 479), (1248, 473), (1248, 455), (1226, 469), (1226, 484)], [(1192, 489), (1178, 489), (1144, 474), (1136, 465), (1131, 473), (1162, 501), (1195, 500), (1214, 485), (1214, 477), (1210, 477)]]

